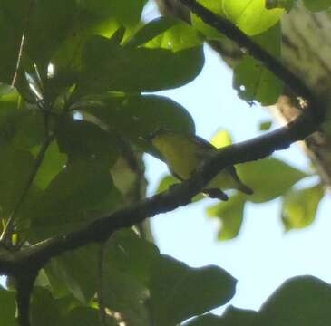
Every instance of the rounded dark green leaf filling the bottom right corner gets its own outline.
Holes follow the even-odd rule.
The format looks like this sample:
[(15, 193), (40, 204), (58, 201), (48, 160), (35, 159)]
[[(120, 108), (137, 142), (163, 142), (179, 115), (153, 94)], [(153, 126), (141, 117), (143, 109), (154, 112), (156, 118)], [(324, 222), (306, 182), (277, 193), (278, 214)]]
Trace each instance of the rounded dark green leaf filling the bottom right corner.
[(260, 310), (258, 325), (325, 326), (330, 317), (331, 287), (313, 276), (287, 280)]

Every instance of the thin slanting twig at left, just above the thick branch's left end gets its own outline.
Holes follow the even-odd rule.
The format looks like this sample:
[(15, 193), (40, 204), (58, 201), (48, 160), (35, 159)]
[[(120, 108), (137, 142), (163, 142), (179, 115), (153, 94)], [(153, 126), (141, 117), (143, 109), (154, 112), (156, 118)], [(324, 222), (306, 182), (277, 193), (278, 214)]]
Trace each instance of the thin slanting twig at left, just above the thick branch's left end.
[(40, 166), (43, 163), (44, 160), (44, 155), (48, 149), (48, 146), (50, 145), (50, 143), (53, 141), (54, 136), (48, 136), (44, 139), (44, 143), (42, 145), (42, 148), (40, 149), (37, 157), (34, 160), (34, 167), (30, 173), (30, 176), (24, 186), (24, 189), (22, 191), (21, 197), (18, 198), (17, 203), (12, 211), (12, 214), (9, 216), (8, 221), (5, 225), (3, 234), (1, 235), (1, 239), (0, 242), (4, 242), (6, 245), (10, 245), (11, 244), (11, 235), (13, 232), (13, 228), (14, 228), (14, 223), (15, 223), (15, 216), (19, 210), (19, 208), (22, 206), (24, 199), (26, 197), (26, 195), (28, 194), (30, 187), (32, 186), (33, 182), (34, 182), (34, 177), (36, 176), (38, 169), (40, 168)]

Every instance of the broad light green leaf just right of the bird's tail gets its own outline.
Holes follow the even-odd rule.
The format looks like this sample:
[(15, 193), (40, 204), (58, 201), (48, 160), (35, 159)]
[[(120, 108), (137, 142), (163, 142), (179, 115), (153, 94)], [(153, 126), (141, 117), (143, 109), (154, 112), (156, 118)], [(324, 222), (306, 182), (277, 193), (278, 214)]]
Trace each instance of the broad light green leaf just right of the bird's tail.
[(240, 179), (254, 189), (246, 199), (263, 203), (283, 195), (298, 180), (307, 174), (292, 168), (276, 158), (265, 158), (256, 162), (236, 166)]

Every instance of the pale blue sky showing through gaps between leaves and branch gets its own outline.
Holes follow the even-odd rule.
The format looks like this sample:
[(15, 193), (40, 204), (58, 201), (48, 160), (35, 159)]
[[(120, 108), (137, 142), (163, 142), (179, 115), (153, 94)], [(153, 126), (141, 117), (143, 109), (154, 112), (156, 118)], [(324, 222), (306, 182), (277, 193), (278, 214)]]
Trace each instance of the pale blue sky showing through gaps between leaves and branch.
[[(152, 6), (148, 19), (156, 14)], [(218, 129), (228, 129), (235, 141), (258, 135), (258, 123), (268, 120), (268, 112), (249, 107), (232, 89), (232, 74), (219, 56), (205, 47), (206, 65), (200, 76), (177, 90), (161, 94), (180, 102), (190, 111), (197, 134), (210, 139)], [(297, 146), (278, 152), (277, 158), (297, 168), (308, 168), (309, 162)], [(147, 157), (149, 193), (157, 187), (167, 167)], [(258, 309), (268, 296), (287, 278), (312, 274), (331, 283), (328, 264), (331, 238), (331, 205), (325, 197), (319, 207), (316, 223), (300, 231), (284, 232), (280, 222), (280, 201), (249, 204), (239, 237), (228, 242), (217, 241), (218, 222), (205, 215), (214, 201), (182, 207), (151, 219), (157, 245), (164, 254), (190, 264), (217, 264), (239, 281), (237, 293), (230, 302), (243, 308)]]

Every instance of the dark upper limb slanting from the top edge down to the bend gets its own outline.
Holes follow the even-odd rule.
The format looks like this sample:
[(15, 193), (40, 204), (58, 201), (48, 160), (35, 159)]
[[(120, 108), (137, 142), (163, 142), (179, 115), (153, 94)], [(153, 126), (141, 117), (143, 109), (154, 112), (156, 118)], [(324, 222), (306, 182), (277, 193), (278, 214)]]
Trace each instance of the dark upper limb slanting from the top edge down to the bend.
[(315, 94), (307, 87), (305, 82), (298, 78), (293, 72), (287, 69), (282, 62), (279, 62), (271, 53), (268, 53), (258, 43), (255, 43), (247, 34), (243, 33), (235, 24), (228, 19), (211, 12), (209, 9), (200, 5), (196, 0), (178, 0), (182, 5), (187, 6), (190, 12), (196, 14), (202, 21), (209, 26), (214, 27), (219, 33), (226, 35), (230, 40), (237, 43), (239, 47), (246, 50), (255, 59), (262, 62), (270, 72), (273, 72), (281, 81), (308, 102), (310, 108), (309, 114), (311, 119), (317, 124), (324, 120), (325, 108), (320, 105)]

